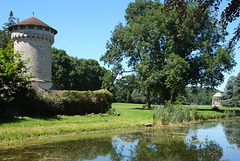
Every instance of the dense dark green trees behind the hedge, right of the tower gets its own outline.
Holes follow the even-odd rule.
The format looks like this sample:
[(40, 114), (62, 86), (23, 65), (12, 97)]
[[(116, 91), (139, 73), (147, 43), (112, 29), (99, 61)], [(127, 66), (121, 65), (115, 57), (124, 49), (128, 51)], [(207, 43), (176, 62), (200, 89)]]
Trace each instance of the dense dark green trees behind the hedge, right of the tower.
[(70, 57), (64, 50), (52, 48), (53, 82), (65, 90), (101, 89), (106, 69), (96, 60)]

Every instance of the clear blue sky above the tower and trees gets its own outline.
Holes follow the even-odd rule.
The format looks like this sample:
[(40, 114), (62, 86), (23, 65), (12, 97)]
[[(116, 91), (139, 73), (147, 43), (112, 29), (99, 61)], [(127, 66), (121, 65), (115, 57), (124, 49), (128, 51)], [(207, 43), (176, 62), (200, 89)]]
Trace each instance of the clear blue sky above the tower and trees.
[[(35, 17), (58, 31), (54, 47), (73, 57), (99, 61), (106, 51), (111, 31), (119, 22), (125, 22), (125, 9), (130, 2), (134, 0), (0, 0), (0, 26), (8, 21), (10, 11), (20, 21), (32, 17), (34, 12)], [(222, 6), (226, 4), (224, 1)], [(235, 26), (237, 22), (228, 27), (229, 33)], [(239, 64), (232, 73), (225, 74), (219, 90), (224, 90), (229, 76), (240, 72), (239, 51), (235, 51)]]

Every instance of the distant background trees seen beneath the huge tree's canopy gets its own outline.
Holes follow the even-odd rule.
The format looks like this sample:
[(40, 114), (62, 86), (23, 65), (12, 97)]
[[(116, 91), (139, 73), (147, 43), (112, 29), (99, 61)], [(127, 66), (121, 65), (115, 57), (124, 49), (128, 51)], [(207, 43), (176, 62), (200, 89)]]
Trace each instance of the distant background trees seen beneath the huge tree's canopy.
[[(116, 79), (114, 86), (107, 89), (113, 93), (115, 102), (141, 104), (146, 102), (145, 93), (139, 90), (134, 74)], [(210, 105), (212, 96), (217, 92), (219, 90), (215, 88), (185, 87), (185, 92), (177, 95), (175, 103), (183, 105)], [(150, 101), (155, 105), (164, 104), (163, 98), (157, 92), (151, 93)]]

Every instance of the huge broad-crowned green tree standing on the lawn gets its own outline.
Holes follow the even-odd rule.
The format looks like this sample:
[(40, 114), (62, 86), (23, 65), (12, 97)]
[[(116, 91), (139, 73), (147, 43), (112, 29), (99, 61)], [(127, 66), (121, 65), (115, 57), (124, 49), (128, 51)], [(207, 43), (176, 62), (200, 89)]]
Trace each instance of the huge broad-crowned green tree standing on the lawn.
[[(122, 61), (136, 72), (146, 105), (150, 94), (159, 92), (163, 100), (174, 102), (186, 85), (217, 86), (223, 72), (235, 65), (233, 49), (221, 46), (226, 32), (215, 22), (211, 10), (192, 18), (198, 3), (186, 6), (181, 19), (177, 6), (165, 9), (158, 1), (138, 0), (126, 9), (126, 25), (118, 24), (101, 60), (114, 71), (124, 72)], [(182, 25), (191, 23), (191, 25)]]

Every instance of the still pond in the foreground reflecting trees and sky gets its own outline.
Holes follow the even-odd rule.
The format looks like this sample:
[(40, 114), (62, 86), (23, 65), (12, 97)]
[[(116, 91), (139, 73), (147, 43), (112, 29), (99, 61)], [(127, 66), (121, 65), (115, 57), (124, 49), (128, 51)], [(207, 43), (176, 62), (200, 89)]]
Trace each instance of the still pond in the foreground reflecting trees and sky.
[(240, 160), (240, 118), (0, 150), (0, 160)]

